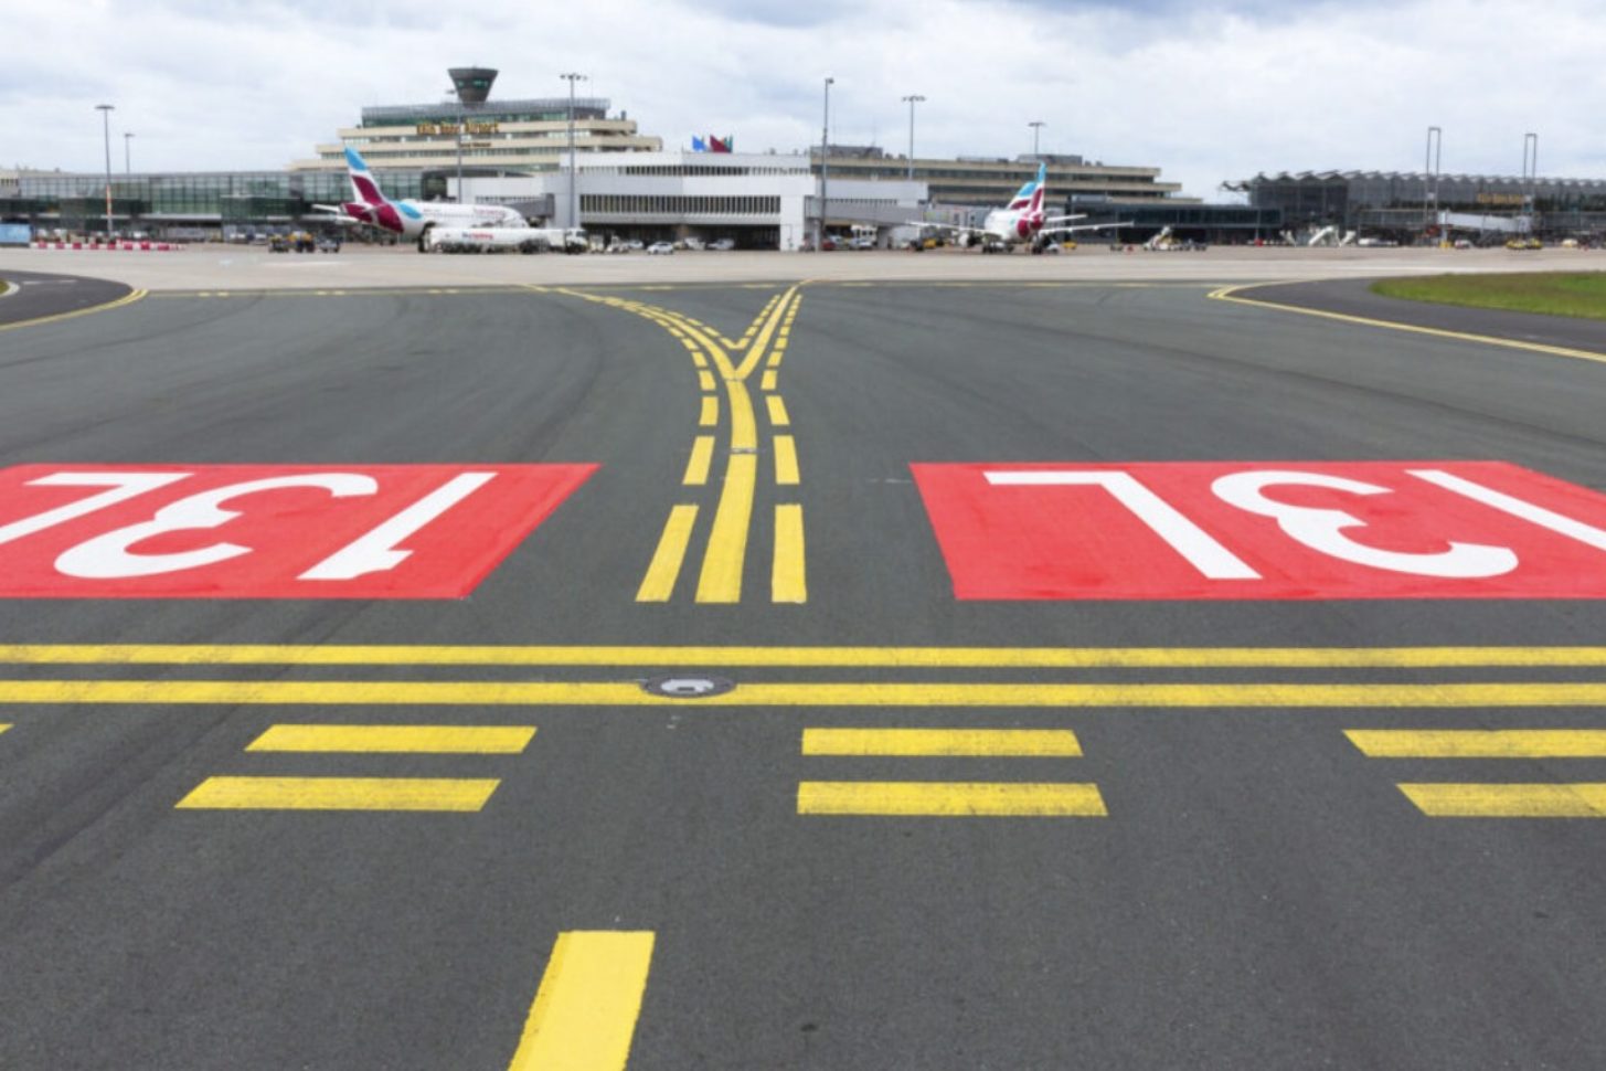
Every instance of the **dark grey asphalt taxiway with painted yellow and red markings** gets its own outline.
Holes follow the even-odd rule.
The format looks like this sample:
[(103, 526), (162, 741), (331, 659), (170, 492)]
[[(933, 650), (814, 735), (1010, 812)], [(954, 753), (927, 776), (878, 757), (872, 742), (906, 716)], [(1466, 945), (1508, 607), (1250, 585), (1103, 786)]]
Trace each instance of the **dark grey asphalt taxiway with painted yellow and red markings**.
[(1216, 289), (0, 334), (0, 1066), (1606, 1065), (1606, 369)]

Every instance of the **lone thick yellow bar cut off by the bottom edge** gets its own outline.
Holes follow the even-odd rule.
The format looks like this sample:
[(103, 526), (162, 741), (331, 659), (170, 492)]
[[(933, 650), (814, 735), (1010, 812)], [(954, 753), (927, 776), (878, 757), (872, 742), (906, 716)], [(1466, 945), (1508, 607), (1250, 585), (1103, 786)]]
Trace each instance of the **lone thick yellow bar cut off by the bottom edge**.
[(650, 931), (559, 935), (509, 1071), (623, 1071), (652, 944)]

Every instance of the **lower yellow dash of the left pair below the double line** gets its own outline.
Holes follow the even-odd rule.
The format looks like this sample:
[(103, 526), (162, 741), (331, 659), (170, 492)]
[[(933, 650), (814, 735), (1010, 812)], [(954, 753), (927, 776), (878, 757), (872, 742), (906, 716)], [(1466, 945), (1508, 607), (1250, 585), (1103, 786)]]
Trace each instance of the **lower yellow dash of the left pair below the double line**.
[(183, 811), (477, 812), (496, 780), (442, 777), (207, 777)]

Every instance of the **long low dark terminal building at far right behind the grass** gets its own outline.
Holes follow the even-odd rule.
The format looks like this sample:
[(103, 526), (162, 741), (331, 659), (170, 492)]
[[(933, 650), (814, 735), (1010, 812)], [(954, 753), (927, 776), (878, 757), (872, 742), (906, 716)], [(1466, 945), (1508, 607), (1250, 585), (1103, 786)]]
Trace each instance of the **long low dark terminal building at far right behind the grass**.
[(1229, 183), (1294, 231), (1333, 226), (1399, 242), (1484, 233), (1545, 239), (1606, 234), (1606, 181), (1402, 172), (1278, 172)]

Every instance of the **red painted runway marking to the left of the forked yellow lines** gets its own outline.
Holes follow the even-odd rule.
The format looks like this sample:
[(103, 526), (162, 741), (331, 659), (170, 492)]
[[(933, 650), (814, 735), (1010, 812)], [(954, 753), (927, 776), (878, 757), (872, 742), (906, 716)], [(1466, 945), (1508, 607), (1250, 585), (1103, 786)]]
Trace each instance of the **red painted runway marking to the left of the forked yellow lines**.
[(0, 469), (0, 597), (456, 599), (594, 470)]

